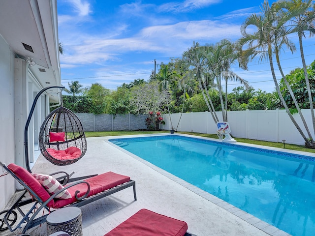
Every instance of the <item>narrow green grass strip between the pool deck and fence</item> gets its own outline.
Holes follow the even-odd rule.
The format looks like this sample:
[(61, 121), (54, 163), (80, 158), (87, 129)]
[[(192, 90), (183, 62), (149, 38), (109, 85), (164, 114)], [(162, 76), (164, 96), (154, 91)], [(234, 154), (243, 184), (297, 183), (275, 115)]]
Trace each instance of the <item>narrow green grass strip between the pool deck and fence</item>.
[[(132, 135), (132, 134), (157, 134), (157, 133), (169, 133), (168, 130), (162, 131), (102, 131), (102, 132), (85, 132), (86, 137), (102, 137), (102, 136), (118, 136), (118, 135)], [(218, 139), (216, 134), (201, 134), (201, 133), (191, 133), (191, 132), (178, 132), (180, 134), (190, 134), (201, 137)], [(259, 141), (253, 139), (243, 139), (243, 138), (234, 138), (237, 142), (247, 143), (247, 144), (256, 144), (267, 147), (274, 148), (284, 148), (283, 143), (274, 143), (267, 141)], [(297, 151), (306, 151), (315, 153), (315, 149), (305, 148), (304, 146), (294, 145), (294, 144), (285, 144), (285, 149), (297, 150)]]

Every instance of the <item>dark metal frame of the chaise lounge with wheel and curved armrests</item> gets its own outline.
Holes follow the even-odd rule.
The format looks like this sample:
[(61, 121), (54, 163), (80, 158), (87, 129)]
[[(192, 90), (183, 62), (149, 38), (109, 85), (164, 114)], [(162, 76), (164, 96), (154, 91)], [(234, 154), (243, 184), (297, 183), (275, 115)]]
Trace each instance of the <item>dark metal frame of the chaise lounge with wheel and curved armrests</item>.
[[(134, 200), (136, 201), (137, 200), (137, 197), (136, 197), (136, 190), (135, 190), (135, 181), (134, 180), (129, 180), (128, 182), (125, 182), (123, 184), (120, 184), (118, 186), (115, 186), (113, 188), (110, 188), (110, 189), (107, 189), (101, 193), (98, 193), (96, 195), (92, 195), (90, 197), (87, 197), (89, 192), (90, 192), (90, 185), (88, 182), (84, 181), (84, 180), (80, 180), (78, 182), (75, 182), (75, 183), (72, 183), (70, 185), (67, 185), (67, 186), (64, 186), (64, 188), (58, 192), (56, 192), (55, 194), (51, 195), (51, 197), (46, 200), (45, 202), (43, 202), (40, 197), (32, 190), (32, 188), (30, 188), (24, 181), (23, 179), (21, 179), (20, 177), (18, 177), (17, 175), (15, 175), (7, 166), (5, 166), (4, 164), (2, 164), (0, 162), (0, 166), (7, 172), (9, 173), (12, 177), (14, 177), (20, 184), (23, 185), (23, 187), (25, 188), (25, 190), (23, 191), (22, 195), (17, 199), (17, 201), (13, 204), (13, 206), (8, 209), (8, 210), (4, 210), (2, 212), (0, 212), (0, 215), (1, 214), (4, 214), (4, 217), (3, 219), (0, 219), (0, 223), (1, 223), (1, 227), (4, 225), (4, 223), (6, 224), (7, 228), (12, 232), (12, 231), (15, 231), (16, 229), (18, 228), (22, 228), (22, 224), (23, 223), (26, 223), (26, 226), (24, 227), (23, 231), (22, 231), (22, 234), (25, 234), (25, 232), (34, 227), (34, 226), (37, 226), (39, 224), (42, 224), (44, 222), (46, 222), (46, 217), (49, 213), (45, 214), (45, 215), (42, 215), (42, 216), (39, 216), (37, 218), (35, 218), (37, 216), (37, 214), (39, 212), (42, 212), (43, 209), (46, 209), (48, 210), (48, 212), (51, 211), (51, 209), (49, 209), (47, 207), (47, 204), (53, 200), (55, 198), (55, 196), (57, 196), (59, 193), (63, 192), (65, 189), (68, 189), (70, 187), (73, 187), (77, 184), (81, 184), (81, 183), (84, 183), (87, 185), (87, 191), (86, 193), (84, 194), (84, 196), (82, 197), (78, 197), (77, 194), (79, 193), (79, 191), (76, 191), (75, 192), (75, 197), (76, 197), (76, 200), (77, 202), (74, 202), (72, 204), (69, 204), (65, 207), (82, 207), (82, 206), (85, 206), (89, 203), (92, 203), (96, 200), (99, 200), (101, 198), (104, 198), (106, 196), (109, 196), (113, 193), (116, 193), (118, 191), (121, 191), (123, 189), (126, 189), (128, 187), (131, 187), (133, 186), (133, 195), (134, 195)], [(54, 173), (54, 174), (51, 174), (51, 175), (55, 175), (55, 174), (60, 174), (60, 173), (63, 173), (63, 172), (57, 172), (57, 173)], [(31, 194), (31, 197), (28, 197), (28, 193)], [(23, 207), (25, 205), (28, 205), (28, 204), (32, 204), (32, 207), (28, 210), (27, 213), (24, 213), (23, 210), (20, 208), (20, 207)], [(38, 207), (37, 205), (40, 205), (40, 207)], [(17, 221), (17, 213), (16, 211), (17, 210), (21, 215), (22, 215), (22, 219), (20, 220), (19, 223), (17, 223), (17, 225), (12, 228), (12, 226), (15, 224), (15, 222)], [(55, 210), (55, 209), (54, 209)], [(13, 216), (13, 219), (11, 219), (10, 217)], [(6, 230), (5, 229), (0, 229), (0, 230)]]

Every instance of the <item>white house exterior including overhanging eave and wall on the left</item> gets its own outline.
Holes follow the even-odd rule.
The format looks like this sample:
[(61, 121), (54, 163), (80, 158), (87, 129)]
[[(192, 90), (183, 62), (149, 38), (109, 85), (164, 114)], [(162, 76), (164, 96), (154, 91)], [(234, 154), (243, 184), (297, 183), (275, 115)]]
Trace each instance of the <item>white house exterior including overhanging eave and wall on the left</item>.
[[(26, 167), (24, 129), (33, 99), (42, 87), (61, 85), (57, 0), (1, 1), (0, 13), (0, 161)], [(28, 43), (33, 52), (22, 42)], [(25, 61), (28, 57), (35, 61), (32, 67)], [(34, 161), (38, 156), (34, 155), (34, 143), (48, 114), (49, 99), (59, 101), (54, 92), (49, 98), (41, 95), (30, 122), (29, 158)], [(1, 211), (15, 191), (13, 178), (0, 177), (0, 189)]]

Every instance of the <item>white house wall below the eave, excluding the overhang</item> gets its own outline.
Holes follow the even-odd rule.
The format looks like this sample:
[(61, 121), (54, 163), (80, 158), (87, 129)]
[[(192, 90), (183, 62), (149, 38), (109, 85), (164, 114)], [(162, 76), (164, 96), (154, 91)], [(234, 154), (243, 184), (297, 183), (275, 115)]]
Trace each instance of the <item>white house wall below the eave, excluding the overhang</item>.
[[(41, 88), (39, 88), (36, 78), (30, 73), (25, 60), (15, 58), (1, 36), (0, 55), (0, 161), (6, 165), (16, 163), (26, 167), (24, 151), (25, 123), (32, 107), (33, 98)], [(47, 101), (48, 99), (45, 99), (45, 95), (42, 94), (38, 99), (29, 126), (28, 147), (31, 162), (38, 157), (38, 154), (34, 154), (36, 151), (34, 143), (37, 143), (40, 125), (47, 114), (46, 109), (49, 109), (47, 108)], [(2, 169), (0, 170), (1, 174)], [(6, 206), (16, 188), (19, 188), (19, 185), (15, 186), (14, 179), (11, 176), (0, 177), (0, 209)]]

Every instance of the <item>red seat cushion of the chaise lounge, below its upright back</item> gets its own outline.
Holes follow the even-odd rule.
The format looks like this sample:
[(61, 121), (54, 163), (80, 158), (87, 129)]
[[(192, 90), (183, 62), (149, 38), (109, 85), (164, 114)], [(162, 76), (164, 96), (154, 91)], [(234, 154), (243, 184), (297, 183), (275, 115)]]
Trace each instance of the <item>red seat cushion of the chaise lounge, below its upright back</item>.
[[(107, 189), (116, 187), (120, 184), (126, 183), (130, 180), (130, 177), (116, 174), (114, 172), (107, 172), (95, 177), (83, 179), (90, 184), (90, 192), (88, 197), (101, 193)], [(67, 186), (67, 185), (65, 185)], [(61, 208), (76, 202), (75, 191), (79, 190), (80, 193), (78, 197), (82, 197), (87, 191), (87, 185), (85, 183), (80, 183), (68, 188), (69, 193), (71, 194), (70, 199), (55, 199), (55, 205), (53, 208)]]

